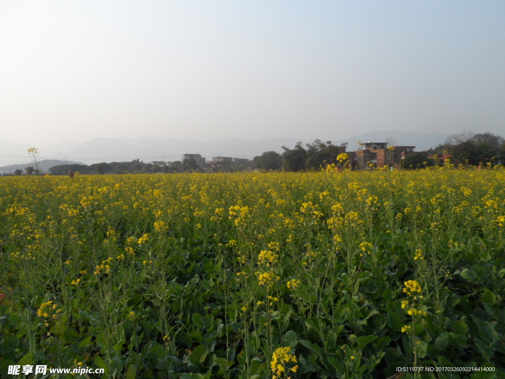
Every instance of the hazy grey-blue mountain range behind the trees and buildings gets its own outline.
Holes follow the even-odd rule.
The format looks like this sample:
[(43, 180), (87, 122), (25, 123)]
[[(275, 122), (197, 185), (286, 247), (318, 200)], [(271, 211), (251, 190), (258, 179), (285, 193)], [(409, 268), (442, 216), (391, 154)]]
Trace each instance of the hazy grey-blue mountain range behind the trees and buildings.
[[(397, 130), (377, 131), (354, 135), (346, 139), (333, 139), (334, 145), (348, 143), (347, 150), (358, 148), (358, 141), (383, 142), (387, 138), (397, 140), (397, 145), (416, 146), (416, 150), (427, 150), (442, 143), (444, 134), (440, 133), (414, 133)], [(323, 139), (323, 138), (321, 138)], [(326, 141), (326, 139), (323, 139)], [(225, 157), (252, 159), (261, 155), (264, 151), (276, 151), (282, 153), (282, 146), (294, 147), (297, 141), (304, 145), (312, 143), (312, 140), (298, 138), (261, 138), (258, 140), (245, 140), (240, 138), (217, 138), (209, 141), (197, 141), (194, 139), (174, 139), (144, 135), (138, 138), (93, 138), (84, 143), (78, 141), (66, 141), (39, 147), (38, 152), (42, 160), (57, 160), (58, 164), (64, 164), (65, 158), (69, 161), (93, 164), (98, 162), (121, 162), (140, 159), (150, 161), (179, 161), (184, 153), (201, 154), (210, 160), (219, 155)], [(36, 145), (18, 144), (0, 139), (0, 164), (12, 166), (21, 163), (24, 169), (29, 157), (27, 149)], [(6, 172), (7, 167), (0, 167)], [(45, 166), (44, 166), (45, 167)], [(49, 167), (47, 167), (49, 168)]]

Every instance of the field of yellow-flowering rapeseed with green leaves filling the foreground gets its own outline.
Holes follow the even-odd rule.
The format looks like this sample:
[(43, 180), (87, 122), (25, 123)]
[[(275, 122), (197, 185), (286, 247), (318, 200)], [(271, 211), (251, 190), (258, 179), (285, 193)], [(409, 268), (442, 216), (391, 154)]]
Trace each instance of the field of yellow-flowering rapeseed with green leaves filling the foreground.
[(503, 169), (4, 177), (0, 215), (2, 377), (505, 377)]

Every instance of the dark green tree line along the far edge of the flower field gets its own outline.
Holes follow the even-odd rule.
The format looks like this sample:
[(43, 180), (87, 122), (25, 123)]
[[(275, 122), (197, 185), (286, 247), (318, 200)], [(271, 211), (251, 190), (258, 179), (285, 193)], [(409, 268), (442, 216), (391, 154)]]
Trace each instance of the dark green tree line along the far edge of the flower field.
[[(282, 154), (275, 151), (263, 152), (254, 157), (256, 167), (267, 171), (311, 171), (326, 167), (327, 164), (336, 163), (337, 156), (345, 152), (347, 143), (335, 146), (331, 141), (323, 142), (315, 139), (312, 144), (305, 146), (298, 142), (290, 149), (282, 147)], [(493, 133), (473, 133), (463, 131), (449, 135), (443, 144), (429, 151), (408, 155), (401, 161), (401, 166), (406, 169), (422, 168), (437, 164), (433, 157), (444, 155), (452, 156), (452, 163), (464, 165), (495, 165), (505, 163), (505, 139)], [(430, 158), (431, 157), (431, 158)], [(95, 163), (92, 165), (58, 165), (51, 167), (49, 172), (53, 175), (67, 175), (80, 172), (81, 174), (132, 174), (132, 173), (172, 173), (185, 171), (200, 171), (201, 167), (194, 159), (185, 159), (183, 162), (173, 162), (172, 166), (157, 166), (144, 163), (138, 159), (131, 162)], [(221, 170), (236, 170), (236, 168), (221, 168)], [(28, 174), (34, 173), (33, 167), (27, 167)], [(21, 172), (16, 172), (21, 174)]]

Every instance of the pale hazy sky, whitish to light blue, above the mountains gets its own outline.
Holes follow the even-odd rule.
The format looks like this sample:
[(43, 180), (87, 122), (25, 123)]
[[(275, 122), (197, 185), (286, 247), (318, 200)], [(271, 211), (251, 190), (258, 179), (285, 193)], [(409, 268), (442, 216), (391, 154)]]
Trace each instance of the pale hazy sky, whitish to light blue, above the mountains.
[(503, 0), (0, 0), (0, 138), (503, 135), (503, 20)]

